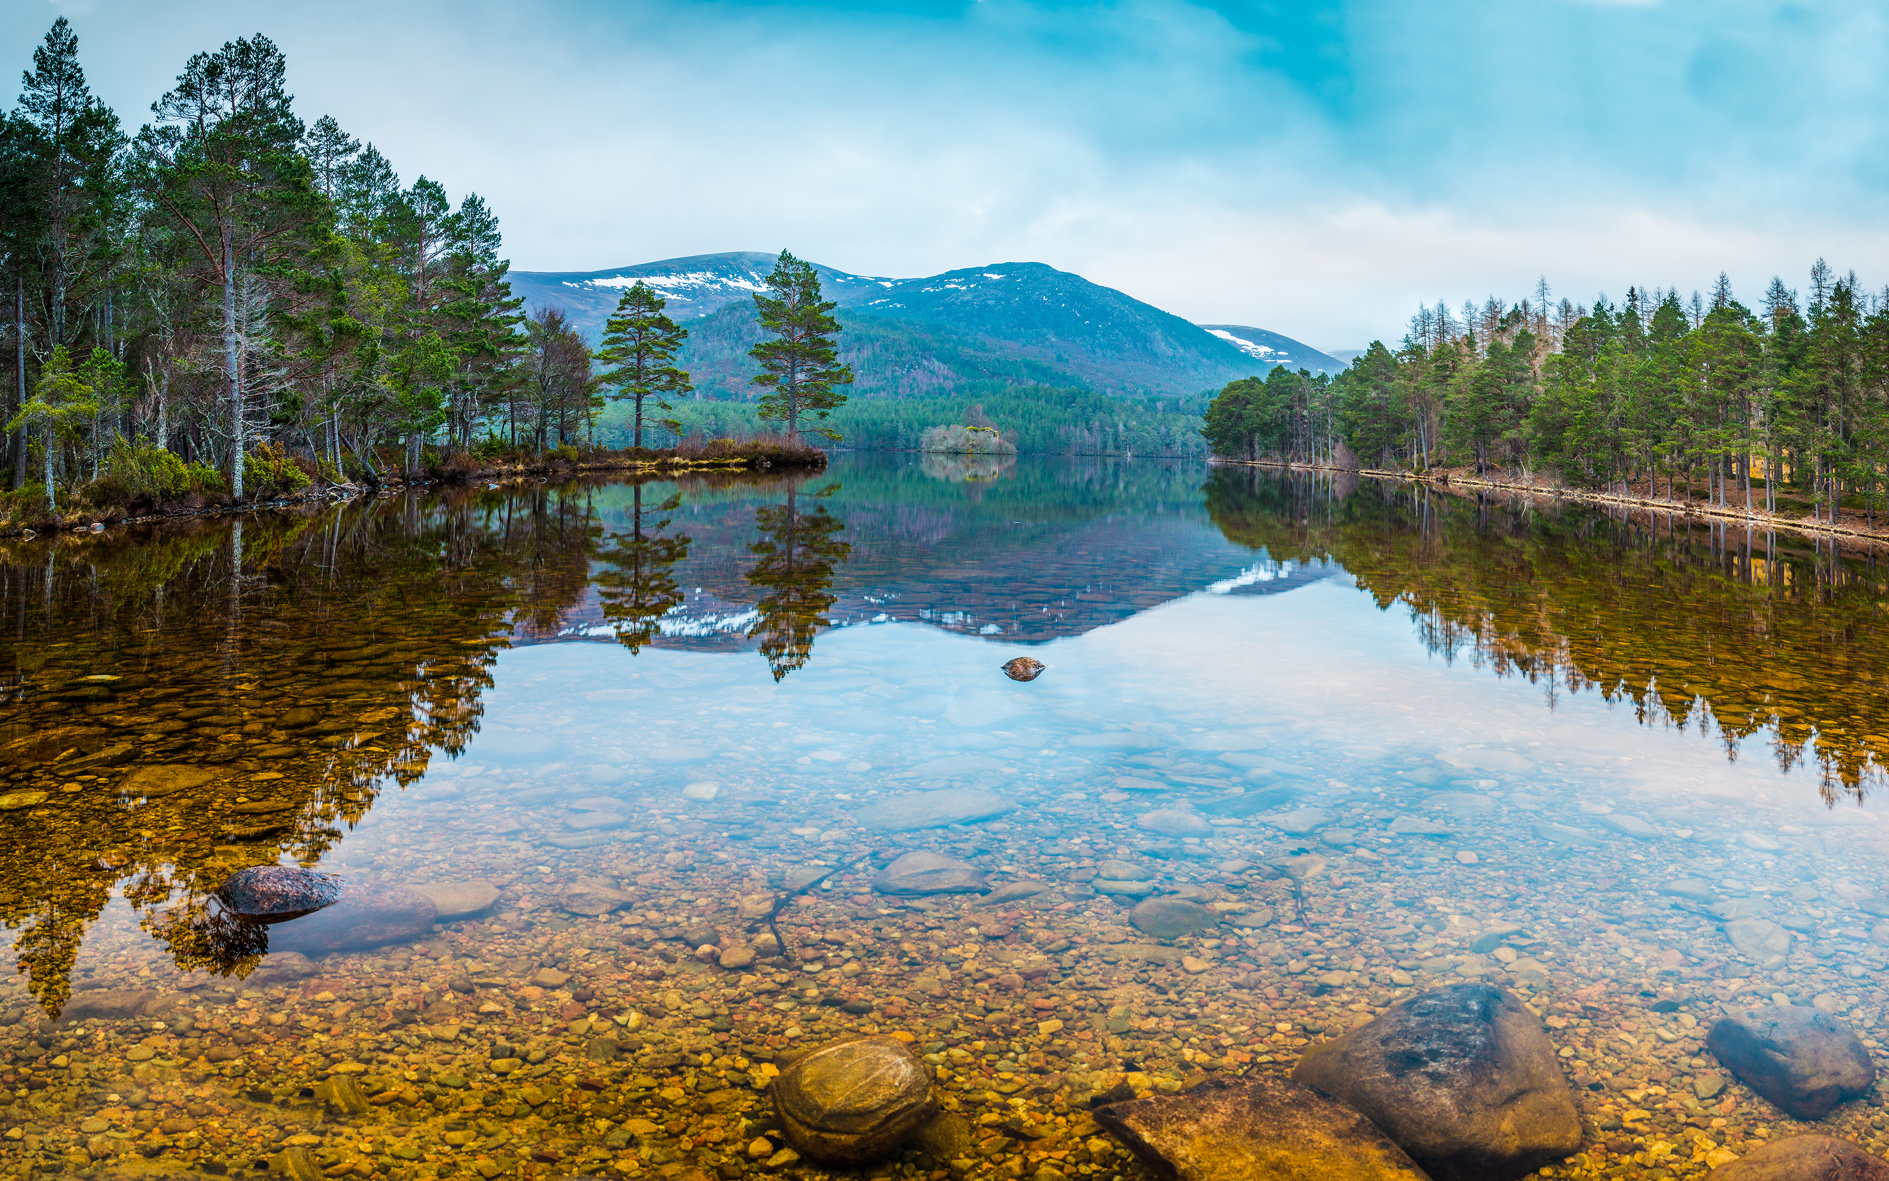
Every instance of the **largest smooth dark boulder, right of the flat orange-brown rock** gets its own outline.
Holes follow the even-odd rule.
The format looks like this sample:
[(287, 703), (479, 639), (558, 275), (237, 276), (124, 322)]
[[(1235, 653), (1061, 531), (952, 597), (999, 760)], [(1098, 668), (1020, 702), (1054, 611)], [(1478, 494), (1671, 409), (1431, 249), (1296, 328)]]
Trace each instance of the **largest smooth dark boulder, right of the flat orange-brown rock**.
[(1300, 1058), (1436, 1181), (1507, 1181), (1581, 1147), (1581, 1115), (1555, 1045), (1513, 994), (1451, 984)]

